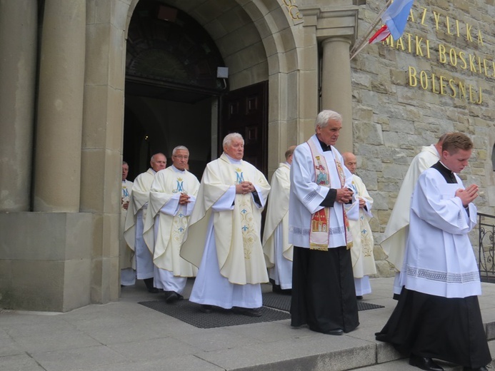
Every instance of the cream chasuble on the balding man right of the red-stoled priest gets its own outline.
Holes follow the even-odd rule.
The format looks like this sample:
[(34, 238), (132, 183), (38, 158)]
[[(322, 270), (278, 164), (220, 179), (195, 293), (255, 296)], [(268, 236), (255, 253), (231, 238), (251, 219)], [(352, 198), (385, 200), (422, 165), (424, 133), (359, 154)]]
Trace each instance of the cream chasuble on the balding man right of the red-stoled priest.
[(353, 242), (351, 248), (352, 271), (354, 278), (363, 278), (365, 275), (376, 274), (373, 234), (369, 226), (369, 220), (373, 218), (371, 214), (373, 198), (369, 195), (366, 185), (359, 176), (352, 176), (351, 188), (354, 190), (356, 198), (362, 198), (366, 201), (367, 210), (359, 208), (359, 199), (352, 203), (349, 208), (346, 207)]

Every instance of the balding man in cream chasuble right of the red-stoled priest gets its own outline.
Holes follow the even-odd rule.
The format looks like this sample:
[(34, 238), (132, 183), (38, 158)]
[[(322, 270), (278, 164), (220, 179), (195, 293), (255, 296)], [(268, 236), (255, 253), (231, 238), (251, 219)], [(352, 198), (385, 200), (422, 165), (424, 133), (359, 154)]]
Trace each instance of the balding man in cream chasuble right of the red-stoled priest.
[[(373, 218), (371, 207), (373, 198), (368, 193), (366, 185), (359, 176), (356, 176), (357, 160), (354, 153), (342, 153), (344, 164), (352, 174), (351, 188), (354, 191), (356, 202), (346, 207), (349, 218), (349, 228), (352, 234), (352, 271), (354, 273), (354, 287), (356, 298), (371, 293), (369, 275), (376, 274), (375, 258), (373, 255), (374, 239), (371, 233), (369, 220)], [(346, 205), (347, 206), (347, 205)]]

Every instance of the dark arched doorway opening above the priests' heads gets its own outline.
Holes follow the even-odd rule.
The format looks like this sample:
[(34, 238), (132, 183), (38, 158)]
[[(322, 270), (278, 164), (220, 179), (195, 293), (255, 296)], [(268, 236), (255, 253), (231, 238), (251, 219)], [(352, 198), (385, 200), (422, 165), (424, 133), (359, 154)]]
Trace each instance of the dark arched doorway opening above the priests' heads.
[(126, 46), (124, 161), (129, 179), (149, 167), (152, 154), (167, 157), (175, 146), (191, 153), (189, 167), (200, 177), (211, 160), (219, 97), (228, 83), (214, 41), (183, 11), (141, 0), (129, 24)]

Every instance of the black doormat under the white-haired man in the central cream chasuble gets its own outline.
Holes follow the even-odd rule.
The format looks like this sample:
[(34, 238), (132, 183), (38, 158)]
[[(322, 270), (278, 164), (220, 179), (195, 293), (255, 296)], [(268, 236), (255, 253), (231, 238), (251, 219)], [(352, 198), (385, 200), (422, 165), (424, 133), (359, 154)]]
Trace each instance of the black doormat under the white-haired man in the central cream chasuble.
[(214, 311), (211, 313), (204, 313), (199, 310), (199, 304), (191, 303), (189, 300), (180, 300), (173, 304), (167, 304), (165, 303), (165, 300), (139, 302), (139, 304), (199, 328), (288, 320), (291, 317), (288, 312), (282, 312), (281, 310), (266, 307), (261, 307), (261, 317), (238, 315), (231, 310), (218, 307), (214, 307)]

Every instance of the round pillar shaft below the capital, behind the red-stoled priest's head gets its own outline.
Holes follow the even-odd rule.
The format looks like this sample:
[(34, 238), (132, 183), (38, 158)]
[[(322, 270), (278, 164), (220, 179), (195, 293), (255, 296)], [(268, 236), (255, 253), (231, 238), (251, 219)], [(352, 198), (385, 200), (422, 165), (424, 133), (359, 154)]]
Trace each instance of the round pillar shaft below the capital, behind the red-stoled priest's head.
[(321, 109), (331, 109), (342, 116), (342, 129), (336, 144), (342, 153), (353, 151), (350, 45), (351, 40), (344, 37), (329, 37), (321, 42)]

